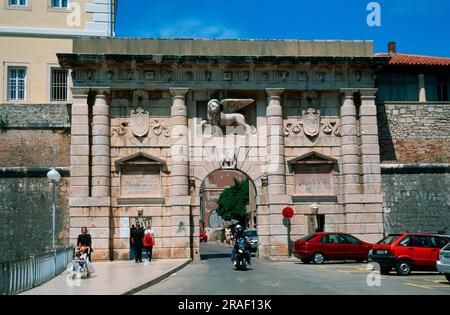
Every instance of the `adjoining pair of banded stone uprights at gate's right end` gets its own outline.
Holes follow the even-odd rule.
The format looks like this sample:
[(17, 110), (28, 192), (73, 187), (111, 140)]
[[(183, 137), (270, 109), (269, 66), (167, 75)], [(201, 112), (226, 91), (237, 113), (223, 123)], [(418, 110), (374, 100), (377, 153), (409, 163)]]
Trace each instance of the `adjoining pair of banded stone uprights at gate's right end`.
[[(342, 175), (347, 232), (376, 242), (382, 236), (380, 148), (376, 89), (342, 89)], [(361, 94), (359, 117), (353, 94)], [(359, 118), (359, 124), (358, 124)], [(359, 126), (359, 127), (358, 127)]]

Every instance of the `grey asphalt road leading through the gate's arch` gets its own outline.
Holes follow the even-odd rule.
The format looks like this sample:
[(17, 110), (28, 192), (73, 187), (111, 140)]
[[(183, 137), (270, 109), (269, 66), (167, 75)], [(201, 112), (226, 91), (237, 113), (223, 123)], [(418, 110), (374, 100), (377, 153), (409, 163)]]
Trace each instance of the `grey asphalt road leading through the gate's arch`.
[[(450, 295), (450, 284), (436, 272), (380, 276), (369, 286), (367, 264), (252, 260), (248, 271), (235, 271), (230, 250), (202, 245), (195, 262), (139, 295)], [(371, 281), (373, 284), (374, 282)]]

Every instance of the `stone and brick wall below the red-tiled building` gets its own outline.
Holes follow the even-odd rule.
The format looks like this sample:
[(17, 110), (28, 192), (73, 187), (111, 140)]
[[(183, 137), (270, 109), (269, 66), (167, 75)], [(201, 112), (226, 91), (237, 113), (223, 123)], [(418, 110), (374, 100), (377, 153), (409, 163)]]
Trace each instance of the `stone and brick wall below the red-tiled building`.
[(378, 105), (385, 233), (450, 228), (450, 104)]

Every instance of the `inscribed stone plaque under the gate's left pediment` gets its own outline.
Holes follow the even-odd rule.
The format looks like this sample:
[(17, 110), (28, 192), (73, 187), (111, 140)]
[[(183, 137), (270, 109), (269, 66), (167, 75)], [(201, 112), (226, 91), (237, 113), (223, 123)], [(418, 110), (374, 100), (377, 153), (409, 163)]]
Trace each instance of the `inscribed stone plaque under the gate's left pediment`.
[(127, 166), (122, 170), (122, 197), (161, 197), (159, 168)]

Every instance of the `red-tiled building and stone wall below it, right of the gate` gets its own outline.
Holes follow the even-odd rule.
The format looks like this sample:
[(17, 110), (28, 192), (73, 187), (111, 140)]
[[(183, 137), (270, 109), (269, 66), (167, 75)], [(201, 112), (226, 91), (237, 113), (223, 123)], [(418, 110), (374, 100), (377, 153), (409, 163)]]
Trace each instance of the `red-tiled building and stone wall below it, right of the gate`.
[(450, 58), (397, 53), (377, 77), (386, 233), (450, 229)]

